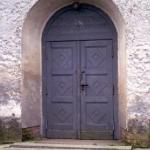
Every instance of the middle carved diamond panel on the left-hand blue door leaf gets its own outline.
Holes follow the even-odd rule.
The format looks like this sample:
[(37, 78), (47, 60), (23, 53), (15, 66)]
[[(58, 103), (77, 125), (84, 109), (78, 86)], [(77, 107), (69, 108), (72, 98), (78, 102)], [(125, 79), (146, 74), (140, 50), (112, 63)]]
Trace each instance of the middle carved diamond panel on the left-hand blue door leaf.
[(53, 96), (72, 96), (73, 81), (72, 76), (53, 77)]

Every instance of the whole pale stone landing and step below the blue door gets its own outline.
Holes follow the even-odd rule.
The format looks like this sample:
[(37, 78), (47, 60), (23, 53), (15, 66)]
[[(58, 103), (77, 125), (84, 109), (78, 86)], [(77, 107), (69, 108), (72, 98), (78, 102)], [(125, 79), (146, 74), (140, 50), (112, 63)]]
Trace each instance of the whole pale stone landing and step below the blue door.
[(109, 140), (42, 140), (1, 145), (0, 150), (131, 150), (119, 141)]

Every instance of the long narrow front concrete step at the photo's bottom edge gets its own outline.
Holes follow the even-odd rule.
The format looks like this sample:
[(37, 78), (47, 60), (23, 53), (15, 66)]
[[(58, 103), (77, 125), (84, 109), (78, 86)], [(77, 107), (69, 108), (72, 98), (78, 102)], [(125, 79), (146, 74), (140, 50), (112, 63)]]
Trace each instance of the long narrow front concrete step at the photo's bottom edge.
[(11, 148), (19, 149), (51, 149), (51, 150), (131, 150), (131, 146), (120, 145), (85, 145), (85, 144), (48, 144), (48, 143), (15, 143)]

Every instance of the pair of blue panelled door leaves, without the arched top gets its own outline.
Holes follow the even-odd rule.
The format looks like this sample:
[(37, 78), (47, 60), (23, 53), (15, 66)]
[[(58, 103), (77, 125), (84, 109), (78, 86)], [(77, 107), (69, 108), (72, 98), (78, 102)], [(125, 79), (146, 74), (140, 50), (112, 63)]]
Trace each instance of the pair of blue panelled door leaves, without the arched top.
[(112, 41), (46, 43), (47, 137), (113, 139)]

